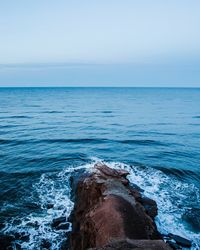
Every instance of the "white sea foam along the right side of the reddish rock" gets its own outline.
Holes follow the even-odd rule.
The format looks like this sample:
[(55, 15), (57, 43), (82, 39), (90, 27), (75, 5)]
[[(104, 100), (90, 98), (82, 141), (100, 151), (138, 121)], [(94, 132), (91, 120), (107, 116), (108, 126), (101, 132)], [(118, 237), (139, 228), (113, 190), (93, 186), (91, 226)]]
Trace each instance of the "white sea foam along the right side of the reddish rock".
[(145, 196), (157, 202), (156, 224), (161, 233), (173, 233), (190, 239), (193, 242), (192, 249), (200, 249), (200, 235), (186, 228), (182, 221), (190, 198), (200, 201), (199, 190), (194, 185), (149, 167), (129, 166), (118, 162), (105, 163), (111, 168), (128, 170), (129, 181), (142, 188)]

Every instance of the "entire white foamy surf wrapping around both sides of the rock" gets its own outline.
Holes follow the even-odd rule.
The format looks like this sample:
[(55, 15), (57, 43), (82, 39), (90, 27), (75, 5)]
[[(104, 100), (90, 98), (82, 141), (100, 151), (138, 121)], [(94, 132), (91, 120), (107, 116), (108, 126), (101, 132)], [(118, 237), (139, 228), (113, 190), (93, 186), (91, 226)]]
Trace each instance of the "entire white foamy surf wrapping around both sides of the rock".
[(188, 238), (193, 243), (192, 249), (199, 249), (199, 234), (190, 230), (184, 222), (186, 212), (200, 205), (199, 190), (194, 185), (168, 176), (158, 169), (106, 162), (98, 158), (92, 158), (90, 163), (84, 165), (67, 167), (57, 174), (43, 173), (39, 182), (34, 184), (32, 194), (32, 200), (37, 201), (40, 213), (30, 213), (7, 222), (3, 232), (27, 236), (26, 240), (16, 241), (22, 249), (39, 249), (44, 240), (51, 243), (51, 249), (61, 249), (71, 225), (68, 229), (55, 230), (51, 226), (52, 221), (61, 216), (68, 220), (74, 206), (70, 180), (84, 171), (92, 171), (97, 162), (103, 162), (111, 168), (128, 170), (130, 183), (139, 186), (144, 195), (157, 202), (156, 224), (159, 231)]

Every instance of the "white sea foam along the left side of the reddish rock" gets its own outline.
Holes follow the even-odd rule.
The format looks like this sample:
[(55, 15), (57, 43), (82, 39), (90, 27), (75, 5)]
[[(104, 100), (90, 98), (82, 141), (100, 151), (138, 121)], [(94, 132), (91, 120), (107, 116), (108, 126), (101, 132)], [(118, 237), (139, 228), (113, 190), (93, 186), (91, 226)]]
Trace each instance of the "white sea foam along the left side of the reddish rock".
[[(68, 230), (55, 230), (52, 227), (54, 218), (69, 218), (74, 207), (71, 200), (70, 177), (80, 170), (89, 171), (94, 166), (85, 164), (78, 167), (67, 167), (56, 175), (42, 174), (38, 183), (34, 185), (33, 200), (37, 197), (37, 203), (41, 207), (40, 213), (32, 213), (24, 218), (14, 218), (7, 223), (3, 232), (8, 234), (24, 233), (29, 235), (29, 240), (16, 241), (22, 249), (41, 249), (41, 243), (45, 239), (51, 243), (51, 249), (60, 249), (62, 241), (66, 239)], [(19, 220), (20, 223), (15, 223)]]

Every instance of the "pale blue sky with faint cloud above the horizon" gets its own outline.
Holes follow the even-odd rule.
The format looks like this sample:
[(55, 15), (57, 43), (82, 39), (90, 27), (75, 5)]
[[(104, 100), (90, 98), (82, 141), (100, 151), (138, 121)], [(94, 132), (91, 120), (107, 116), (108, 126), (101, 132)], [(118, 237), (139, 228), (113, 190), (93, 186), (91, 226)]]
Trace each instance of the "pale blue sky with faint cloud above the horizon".
[(199, 0), (2, 0), (0, 86), (200, 87)]

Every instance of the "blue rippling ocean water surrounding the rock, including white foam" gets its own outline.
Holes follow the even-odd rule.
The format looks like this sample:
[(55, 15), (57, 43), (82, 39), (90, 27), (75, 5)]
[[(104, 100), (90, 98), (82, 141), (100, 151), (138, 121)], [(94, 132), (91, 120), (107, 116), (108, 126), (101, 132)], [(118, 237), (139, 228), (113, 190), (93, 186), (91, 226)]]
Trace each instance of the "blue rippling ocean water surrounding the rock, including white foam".
[(200, 89), (1, 88), (0, 235), (62, 249), (70, 179), (103, 161), (158, 204), (162, 233), (200, 249)]

